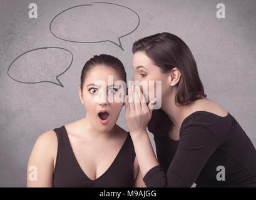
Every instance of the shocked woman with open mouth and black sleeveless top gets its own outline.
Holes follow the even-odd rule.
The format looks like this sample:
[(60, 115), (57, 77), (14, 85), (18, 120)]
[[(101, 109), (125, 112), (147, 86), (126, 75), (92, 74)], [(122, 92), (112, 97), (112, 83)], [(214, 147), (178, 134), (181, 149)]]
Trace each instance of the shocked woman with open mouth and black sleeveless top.
[[(116, 124), (125, 90), (125, 68), (101, 54), (86, 62), (78, 88), (86, 118), (41, 134), (28, 162), (28, 187), (145, 187), (130, 138)], [(111, 100), (111, 101), (109, 101)], [(36, 166), (37, 181), (29, 167)]]

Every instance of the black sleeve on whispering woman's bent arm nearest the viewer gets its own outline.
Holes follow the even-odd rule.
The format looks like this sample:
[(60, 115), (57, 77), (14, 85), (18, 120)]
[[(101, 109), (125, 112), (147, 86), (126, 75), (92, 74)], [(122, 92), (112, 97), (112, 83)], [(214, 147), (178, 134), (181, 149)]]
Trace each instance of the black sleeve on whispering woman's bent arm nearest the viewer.
[(167, 173), (156, 166), (146, 173), (143, 181), (148, 187), (191, 187), (220, 143), (220, 138), (207, 128), (189, 126), (180, 134)]

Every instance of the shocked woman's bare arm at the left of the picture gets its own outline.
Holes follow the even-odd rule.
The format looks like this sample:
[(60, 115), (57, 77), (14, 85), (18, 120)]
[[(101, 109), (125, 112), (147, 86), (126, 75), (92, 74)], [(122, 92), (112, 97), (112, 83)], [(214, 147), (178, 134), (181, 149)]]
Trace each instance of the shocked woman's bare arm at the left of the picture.
[(27, 187), (52, 187), (54, 154), (58, 141), (54, 131), (38, 137), (28, 161)]

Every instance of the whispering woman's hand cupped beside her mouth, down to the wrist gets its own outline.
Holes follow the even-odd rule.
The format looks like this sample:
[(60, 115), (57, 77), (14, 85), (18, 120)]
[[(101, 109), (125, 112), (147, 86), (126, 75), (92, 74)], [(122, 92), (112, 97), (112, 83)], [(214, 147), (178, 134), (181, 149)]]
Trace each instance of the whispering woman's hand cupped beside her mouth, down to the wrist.
[(128, 96), (126, 96), (125, 103), (125, 119), (128, 129), (131, 134), (145, 133), (146, 126), (152, 116), (151, 105), (154, 102), (146, 104), (145, 98), (138, 86), (132, 85), (128, 89)]

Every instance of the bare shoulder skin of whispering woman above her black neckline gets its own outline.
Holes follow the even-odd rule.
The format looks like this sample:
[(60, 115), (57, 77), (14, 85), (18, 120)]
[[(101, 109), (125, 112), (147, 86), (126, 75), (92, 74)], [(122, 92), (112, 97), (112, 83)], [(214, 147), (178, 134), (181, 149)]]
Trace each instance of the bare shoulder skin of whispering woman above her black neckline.
[(208, 98), (198, 99), (197, 101), (195, 101), (192, 105), (192, 110), (193, 112), (207, 111), (209, 113), (217, 114), (221, 117), (225, 117), (228, 114), (227, 111), (222, 108), (222, 106)]

